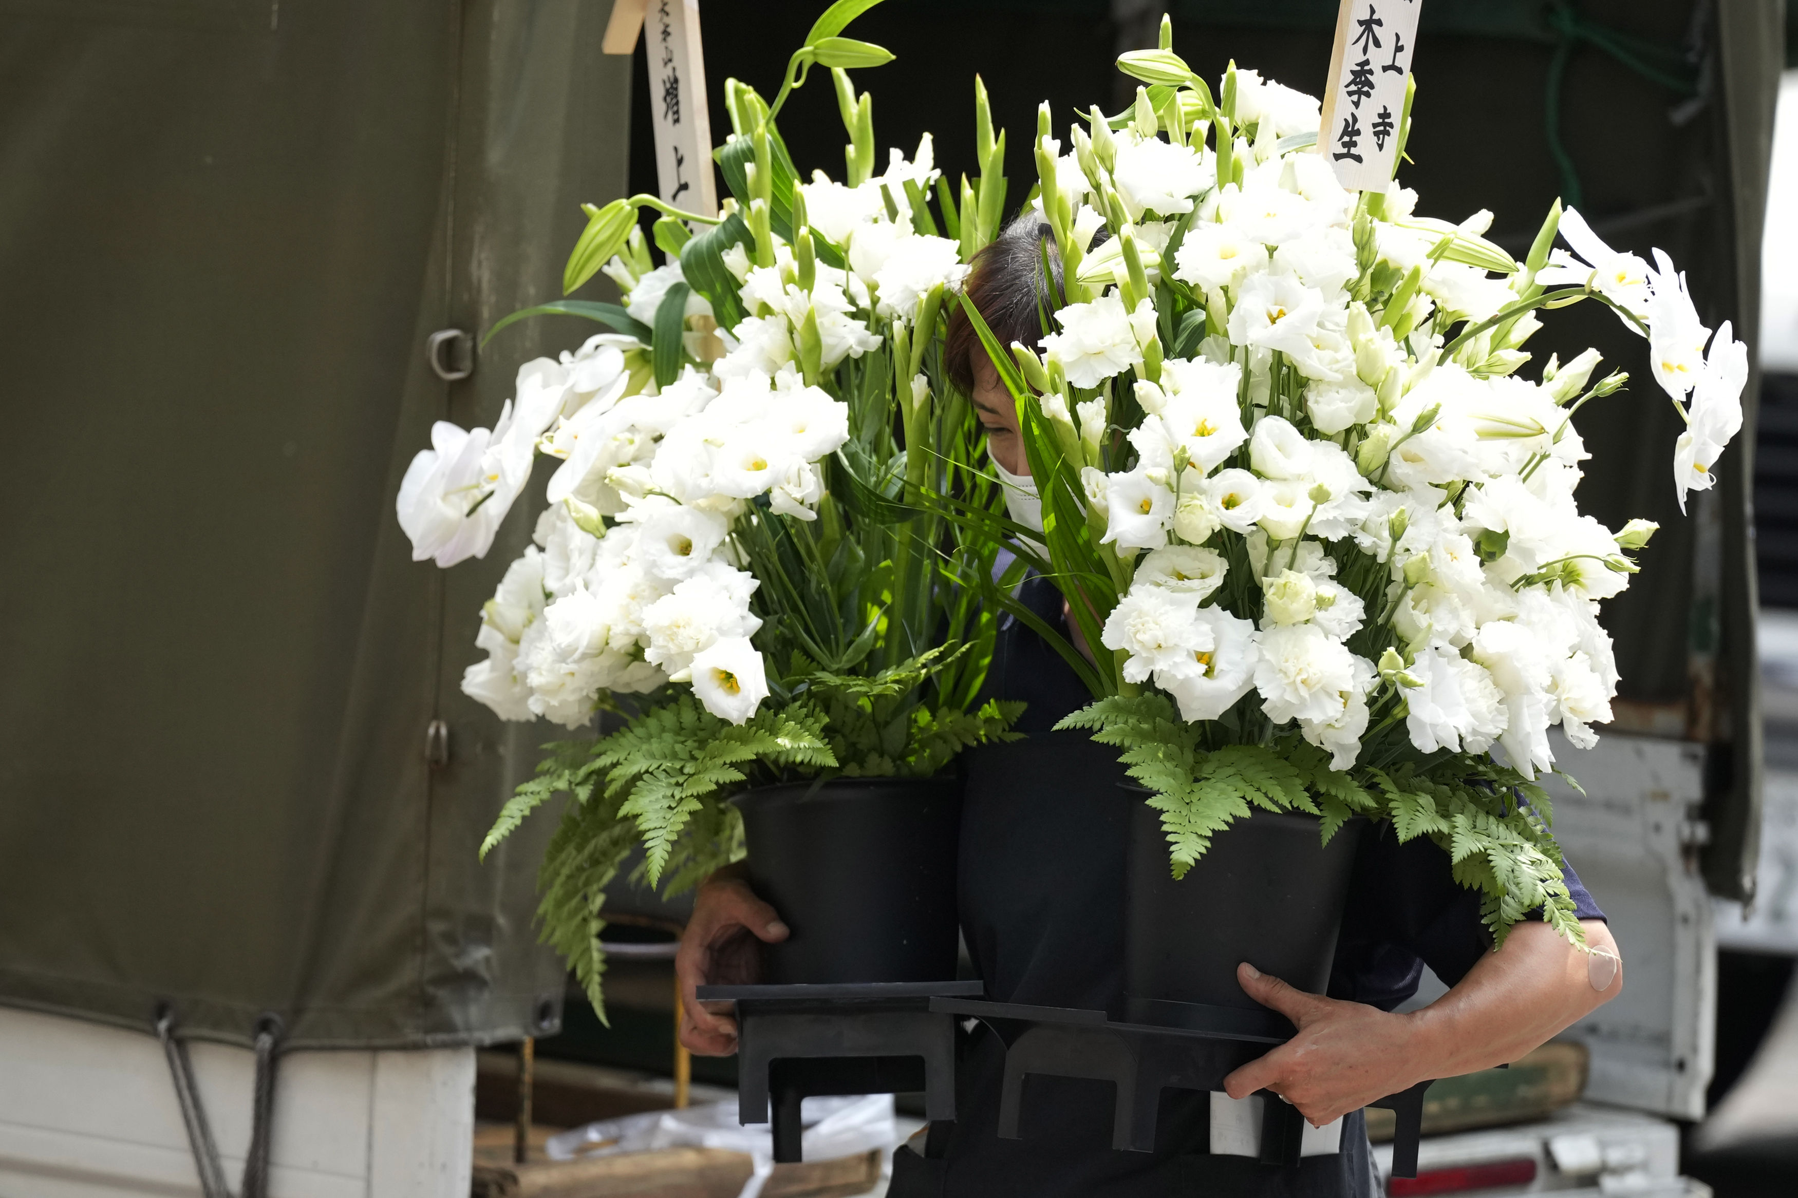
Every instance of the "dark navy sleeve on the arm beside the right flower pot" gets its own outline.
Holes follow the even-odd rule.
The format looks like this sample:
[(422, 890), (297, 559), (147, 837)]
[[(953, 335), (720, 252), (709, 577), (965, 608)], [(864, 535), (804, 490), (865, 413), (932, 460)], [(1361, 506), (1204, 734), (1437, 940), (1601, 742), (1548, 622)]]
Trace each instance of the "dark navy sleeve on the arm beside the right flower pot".
[[(1602, 920), (1571, 866), (1562, 876), (1579, 918)], [(1399, 844), (1388, 823), (1363, 830), (1336, 939), (1332, 999), (1390, 1011), (1417, 993), (1426, 965), (1453, 986), (1491, 948), (1480, 894), (1455, 882), (1447, 853), (1426, 837)]]

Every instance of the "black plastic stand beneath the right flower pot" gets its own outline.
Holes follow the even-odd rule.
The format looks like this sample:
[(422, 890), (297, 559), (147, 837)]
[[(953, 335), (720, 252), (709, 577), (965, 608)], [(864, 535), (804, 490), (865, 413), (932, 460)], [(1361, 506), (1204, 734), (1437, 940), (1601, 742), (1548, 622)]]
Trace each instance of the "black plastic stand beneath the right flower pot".
[[(1165, 1009), (1163, 1009), (1165, 1008)], [(1163, 1088), (1223, 1090), (1224, 1078), (1291, 1038), (1293, 1027), (1273, 1013), (1156, 1004), (1165, 1024), (1113, 1022), (1104, 1011), (933, 999), (931, 1011), (975, 1017), (1005, 1042), (1000, 1090), (1000, 1135), (1019, 1139), (1025, 1074), (1093, 1078), (1117, 1087), (1111, 1148), (1154, 1151)], [(1372, 1103), (1397, 1117), (1393, 1176), (1417, 1176), (1417, 1139), (1429, 1083)], [(1264, 1092), (1268, 1094), (1268, 1092)], [(1260, 1162), (1296, 1166), (1304, 1117), (1268, 1094), (1260, 1123)]]

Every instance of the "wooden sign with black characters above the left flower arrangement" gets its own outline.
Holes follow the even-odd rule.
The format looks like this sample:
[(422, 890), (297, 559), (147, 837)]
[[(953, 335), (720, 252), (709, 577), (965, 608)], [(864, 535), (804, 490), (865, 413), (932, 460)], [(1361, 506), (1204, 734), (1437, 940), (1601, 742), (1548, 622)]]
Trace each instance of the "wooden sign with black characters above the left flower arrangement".
[(699, 0), (617, 0), (601, 48), (606, 54), (633, 54), (636, 34), (645, 27), (656, 190), (676, 208), (717, 216)]

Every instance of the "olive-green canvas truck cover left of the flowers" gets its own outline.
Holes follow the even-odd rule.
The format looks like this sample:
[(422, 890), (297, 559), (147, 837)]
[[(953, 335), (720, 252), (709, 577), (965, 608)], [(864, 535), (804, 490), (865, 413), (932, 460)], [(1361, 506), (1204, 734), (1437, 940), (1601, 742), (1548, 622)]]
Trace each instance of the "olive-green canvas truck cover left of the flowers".
[(529, 505), (439, 571), (392, 503), (433, 420), (586, 336), (424, 361), (559, 295), (624, 192), (608, 9), (0, 2), (0, 1002), (291, 1047), (559, 1020), (548, 821), (475, 859), (550, 736), (457, 690)]

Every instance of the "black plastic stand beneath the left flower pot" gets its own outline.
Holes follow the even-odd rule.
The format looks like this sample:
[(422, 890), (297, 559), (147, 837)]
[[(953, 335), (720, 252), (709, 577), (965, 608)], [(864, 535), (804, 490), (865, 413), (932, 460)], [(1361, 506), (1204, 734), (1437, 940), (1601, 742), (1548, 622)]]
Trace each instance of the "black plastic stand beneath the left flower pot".
[[(699, 986), (737, 1018), (737, 1119), (773, 1115), (775, 1160), (800, 1160), (800, 1101), (823, 1094), (924, 1092), (924, 1117), (955, 1119), (955, 1015), (933, 1000), (982, 982)], [(770, 1103), (771, 1099), (771, 1103)], [(940, 1146), (944, 1137), (931, 1135)]]

